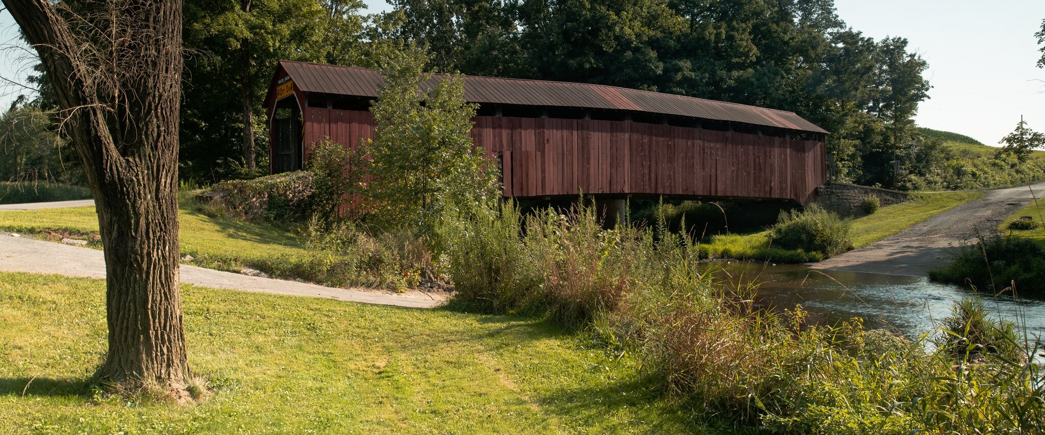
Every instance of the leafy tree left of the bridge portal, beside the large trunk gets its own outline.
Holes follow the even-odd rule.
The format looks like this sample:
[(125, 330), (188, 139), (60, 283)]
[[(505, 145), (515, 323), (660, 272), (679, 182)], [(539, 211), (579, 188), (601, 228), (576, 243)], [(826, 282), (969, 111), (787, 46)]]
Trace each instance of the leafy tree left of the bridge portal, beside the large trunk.
[[(340, 63), (362, 31), (357, 0), (188, 0), (182, 166), (225, 178), (255, 168), (262, 97), (278, 61)], [(259, 125), (261, 124), (261, 125)], [(238, 144), (238, 146), (237, 146)], [(264, 168), (266, 169), (266, 168)]]

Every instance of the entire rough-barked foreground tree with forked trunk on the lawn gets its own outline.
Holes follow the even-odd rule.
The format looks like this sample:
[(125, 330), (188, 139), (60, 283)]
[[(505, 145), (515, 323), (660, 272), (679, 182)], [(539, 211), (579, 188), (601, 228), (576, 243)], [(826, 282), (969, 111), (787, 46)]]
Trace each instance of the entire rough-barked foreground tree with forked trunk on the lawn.
[(120, 390), (189, 398), (179, 292), (179, 0), (3, 0), (51, 77), (95, 198)]

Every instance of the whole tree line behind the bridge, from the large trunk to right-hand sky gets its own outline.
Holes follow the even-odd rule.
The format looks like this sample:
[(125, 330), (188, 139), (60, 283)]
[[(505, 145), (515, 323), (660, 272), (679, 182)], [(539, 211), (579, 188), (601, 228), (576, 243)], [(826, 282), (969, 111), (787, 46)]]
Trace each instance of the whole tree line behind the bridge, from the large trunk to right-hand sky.
[(364, 16), (358, 0), (187, 0), (182, 176), (253, 173), (243, 168), (265, 158), (265, 147), (249, 147), (251, 137), (266, 137), (261, 99), (277, 61), (374, 68), (404, 45), (426, 49), (426, 71), (792, 111), (831, 131), (838, 180), (904, 188), (916, 170), (923, 140), (913, 119), (928, 98), (928, 66), (903, 38), (851, 28), (833, 0), (390, 3), (389, 13)]

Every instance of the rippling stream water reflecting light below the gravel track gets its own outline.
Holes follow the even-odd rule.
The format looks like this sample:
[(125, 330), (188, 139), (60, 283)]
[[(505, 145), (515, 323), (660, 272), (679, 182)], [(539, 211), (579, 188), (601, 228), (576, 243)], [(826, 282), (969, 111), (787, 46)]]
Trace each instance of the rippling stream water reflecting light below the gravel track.
[[(826, 323), (863, 317), (867, 328), (885, 328), (910, 338), (935, 332), (934, 325), (951, 314), (953, 304), (971, 293), (923, 276), (724, 261), (704, 267), (715, 268), (724, 280), (762, 283), (757, 298), (762, 307), (800, 305), (812, 320)], [(1045, 335), (1045, 299), (985, 296), (984, 303), (996, 316), (1025, 319), (1031, 340)]]

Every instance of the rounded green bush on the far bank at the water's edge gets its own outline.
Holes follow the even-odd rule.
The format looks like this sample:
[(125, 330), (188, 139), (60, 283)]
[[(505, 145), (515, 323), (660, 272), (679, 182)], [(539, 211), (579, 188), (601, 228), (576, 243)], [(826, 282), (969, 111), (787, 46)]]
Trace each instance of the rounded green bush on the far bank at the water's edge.
[(853, 247), (849, 219), (811, 203), (806, 210), (781, 212), (780, 222), (769, 229), (771, 243), (788, 248), (837, 256)]

